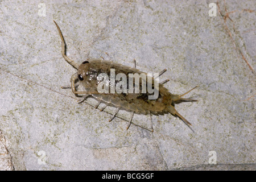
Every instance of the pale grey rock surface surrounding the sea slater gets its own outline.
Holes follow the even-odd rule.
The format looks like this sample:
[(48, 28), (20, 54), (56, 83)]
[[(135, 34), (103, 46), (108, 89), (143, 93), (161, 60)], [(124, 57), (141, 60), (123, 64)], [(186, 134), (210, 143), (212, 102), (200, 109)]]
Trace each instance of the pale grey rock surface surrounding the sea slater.
[[(0, 130), (11, 156), (0, 169), (254, 170), (255, 1), (219, 1), (216, 16), (209, 3), (0, 1)], [(175, 105), (192, 127), (154, 115), (151, 133), (149, 117), (135, 114), (126, 130), (130, 113), (108, 122), (113, 107), (77, 104), (60, 88), (76, 70), (52, 20), (77, 63), (136, 59), (144, 72), (166, 68), (160, 80), (170, 79), (171, 93), (199, 85), (187, 96), (199, 102)]]

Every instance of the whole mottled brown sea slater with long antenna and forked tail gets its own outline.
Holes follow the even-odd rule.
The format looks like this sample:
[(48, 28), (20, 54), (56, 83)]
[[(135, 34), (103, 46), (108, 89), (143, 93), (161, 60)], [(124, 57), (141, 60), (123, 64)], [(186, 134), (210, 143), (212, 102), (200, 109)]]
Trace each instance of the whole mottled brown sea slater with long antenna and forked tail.
[[(97, 105), (95, 106), (96, 108), (101, 104), (105, 104), (104, 107), (102, 107), (100, 110), (104, 110), (106, 106), (112, 105), (114, 107), (117, 107), (115, 110), (114, 114), (112, 117), (109, 119), (109, 121), (112, 121), (112, 119), (115, 117), (115, 115), (118, 113), (120, 109), (127, 110), (131, 112), (131, 116), (129, 119), (129, 123), (126, 127), (126, 129), (129, 129), (131, 125), (131, 121), (133, 119), (134, 113), (138, 114), (148, 114), (150, 115), (150, 122), (151, 122), (151, 131), (154, 131), (153, 126), (152, 126), (152, 117), (151, 114), (166, 114), (166, 113), (171, 113), (173, 115), (177, 115), (182, 121), (184, 121), (187, 125), (191, 125), (185, 119), (181, 114), (179, 114), (174, 106), (172, 105), (173, 102), (176, 101), (197, 101), (193, 100), (190, 98), (183, 98), (183, 96), (188, 92), (177, 95), (177, 94), (171, 94), (168, 89), (166, 89), (163, 84), (168, 82), (169, 80), (164, 80), (162, 82), (158, 82), (158, 79), (156, 77), (150, 77), (147, 75), (146, 80), (144, 81), (149, 81), (151, 80), (151, 88), (156, 88), (157, 86), (157, 91), (158, 91), (158, 97), (155, 98), (154, 100), (149, 99), (149, 96), (152, 96), (152, 93), (148, 92), (148, 90), (144, 90), (142, 92), (142, 80), (143, 78), (141, 77), (141, 81), (139, 81), (139, 90), (138, 92), (122, 92), (122, 93), (117, 93), (117, 92), (99, 92), (98, 91), (98, 86), (102, 82), (102, 78), (99, 78), (100, 75), (105, 74), (106, 76), (109, 76), (108, 78), (105, 79), (105, 83), (107, 82), (107, 85), (111, 85), (111, 76), (110, 73), (112, 70), (114, 70), (115, 74), (122, 73), (123, 75), (127, 76), (130, 74), (143, 74), (144, 72), (139, 71), (136, 69), (136, 61), (134, 59), (134, 68), (127, 67), (122, 64), (117, 64), (113, 63), (112, 61), (106, 61), (106, 60), (101, 60), (101, 59), (90, 59), (83, 61), (82, 64), (77, 64), (75, 61), (72, 61), (69, 59), (69, 57), (65, 54), (65, 42), (63, 35), (61, 34), (60, 28), (57, 25), (57, 23), (53, 20), (53, 22), (56, 24), (57, 30), (59, 31), (60, 38), (61, 38), (61, 52), (64, 57), (64, 59), (71, 64), (74, 68), (77, 69), (77, 73), (72, 75), (71, 77), (71, 86), (62, 86), (61, 88), (67, 89), (71, 88), (72, 92), (74, 94), (79, 94), (81, 95), (81, 99), (78, 101), (81, 103), (84, 101), (88, 96), (93, 96), (97, 101)], [(162, 75), (164, 72), (166, 72), (166, 69), (164, 69), (162, 72), (158, 74), (158, 76)], [(135, 79), (134, 79), (135, 80)], [(114, 79), (114, 86), (118, 85), (122, 90), (127, 91), (129, 86), (135, 85), (135, 81), (132, 80), (132, 82), (127, 81), (122, 81), (121, 79)], [(113, 81), (113, 80), (112, 80)], [(122, 84), (125, 82), (126, 87), (123, 86)], [(81, 86), (82, 90), (77, 90), (78, 86)], [(109, 87), (108, 91), (112, 89), (111, 86)], [(130, 90), (129, 90), (130, 91)], [(133, 89), (134, 91), (134, 89)]]

